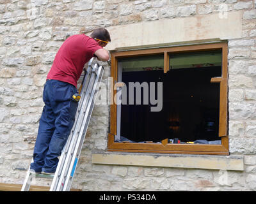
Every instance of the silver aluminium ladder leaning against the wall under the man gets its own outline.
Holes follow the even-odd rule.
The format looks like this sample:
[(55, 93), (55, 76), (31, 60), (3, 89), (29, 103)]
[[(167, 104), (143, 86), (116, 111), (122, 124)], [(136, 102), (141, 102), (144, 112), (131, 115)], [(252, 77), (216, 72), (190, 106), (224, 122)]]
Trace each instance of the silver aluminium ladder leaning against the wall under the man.
[[(70, 191), (74, 173), (76, 171), (77, 161), (81, 154), (84, 138), (92, 115), (95, 97), (99, 90), (100, 81), (104, 73), (104, 68), (95, 63), (92, 66), (93, 58), (88, 63), (86, 75), (84, 74), (83, 82), (79, 89), (81, 99), (79, 101), (76, 119), (67, 143), (61, 152), (60, 160), (56, 172), (52, 179), (50, 191)], [(33, 159), (31, 163), (33, 162)], [(28, 169), (26, 179), (22, 185), (21, 191), (29, 191), (31, 181), (35, 174)], [(42, 175), (39, 175), (39, 177)]]

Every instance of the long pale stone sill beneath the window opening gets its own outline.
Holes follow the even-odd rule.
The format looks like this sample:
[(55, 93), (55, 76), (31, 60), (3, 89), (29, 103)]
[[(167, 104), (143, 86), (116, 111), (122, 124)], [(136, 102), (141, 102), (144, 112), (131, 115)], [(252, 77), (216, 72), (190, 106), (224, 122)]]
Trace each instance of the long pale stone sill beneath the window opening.
[(93, 153), (92, 163), (126, 166), (200, 168), (209, 170), (244, 170), (243, 156), (208, 156), (184, 154), (141, 154), (125, 152), (104, 152)]

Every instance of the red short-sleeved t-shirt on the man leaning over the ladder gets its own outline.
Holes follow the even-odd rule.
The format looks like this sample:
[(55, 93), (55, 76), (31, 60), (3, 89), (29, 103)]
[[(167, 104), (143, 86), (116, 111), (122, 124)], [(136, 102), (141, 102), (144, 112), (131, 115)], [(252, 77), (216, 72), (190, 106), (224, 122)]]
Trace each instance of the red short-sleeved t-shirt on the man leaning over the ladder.
[(76, 87), (84, 64), (101, 48), (93, 38), (85, 34), (70, 36), (58, 50), (47, 79), (68, 82)]

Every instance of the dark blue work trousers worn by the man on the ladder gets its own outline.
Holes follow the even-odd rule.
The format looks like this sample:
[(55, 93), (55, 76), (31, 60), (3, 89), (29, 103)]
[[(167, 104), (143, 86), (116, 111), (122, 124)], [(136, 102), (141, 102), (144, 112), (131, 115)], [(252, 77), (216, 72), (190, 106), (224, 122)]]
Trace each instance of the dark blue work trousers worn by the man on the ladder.
[(68, 135), (75, 122), (78, 103), (72, 101), (77, 92), (74, 85), (58, 80), (47, 80), (44, 86), (45, 103), (39, 122), (38, 135), (30, 168), (36, 172), (55, 172)]

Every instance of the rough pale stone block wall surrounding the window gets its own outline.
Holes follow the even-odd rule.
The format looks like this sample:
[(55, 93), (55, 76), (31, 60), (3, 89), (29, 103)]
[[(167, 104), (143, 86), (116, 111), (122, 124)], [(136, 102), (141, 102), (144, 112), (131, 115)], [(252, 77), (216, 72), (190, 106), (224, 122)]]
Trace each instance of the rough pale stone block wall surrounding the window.
[[(256, 191), (255, 6), (256, 1), (247, 0), (0, 0), (0, 182), (24, 181), (44, 106), (45, 77), (68, 36), (99, 26), (108, 29), (241, 11), (243, 35), (228, 41), (228, 128), (230, 153), (244, 156), (244, 171), (92, 164), (92, 152), (106, 150), (109, 131), (109, 106), (97, 105), (73, 187), (83, 191)], [(109, 66), (102, 65), (107, 84)], [(50, 185), (45, 180), (36, 184)]]

